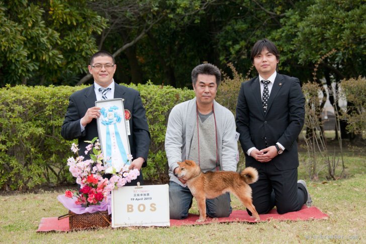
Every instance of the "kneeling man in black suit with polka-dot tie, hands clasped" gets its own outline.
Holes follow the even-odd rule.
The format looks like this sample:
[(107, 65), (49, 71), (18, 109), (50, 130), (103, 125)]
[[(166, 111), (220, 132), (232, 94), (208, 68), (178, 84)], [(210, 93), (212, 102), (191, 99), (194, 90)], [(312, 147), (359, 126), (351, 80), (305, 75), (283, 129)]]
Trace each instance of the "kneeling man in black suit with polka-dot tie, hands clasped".
[(250, 58), (259, 75), (241, 84), (236, 126), (245, 166), (259, 173), (250, 185), (253, 204), (259, 214), (274, 206), (280, 214), (298, 211), (312, 203), (305, 182), (297, 180), (296, 139), (305, 118), (300, 81), (276, 72), (279, 51), (267, 39), (254, 44)]

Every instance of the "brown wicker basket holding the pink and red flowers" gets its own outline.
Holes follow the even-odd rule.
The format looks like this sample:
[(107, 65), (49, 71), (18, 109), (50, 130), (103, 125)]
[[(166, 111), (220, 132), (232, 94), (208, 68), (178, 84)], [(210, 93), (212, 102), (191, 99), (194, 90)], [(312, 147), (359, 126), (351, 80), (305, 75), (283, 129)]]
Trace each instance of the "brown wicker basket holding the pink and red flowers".
[(111, 225), (111, 216), (108, 214), (108, 211), (82, 214), (69, 211), (68, 214), (62, 215), (58, 219), (66, 217), (69, 217), (70, 230), (108, 227)]

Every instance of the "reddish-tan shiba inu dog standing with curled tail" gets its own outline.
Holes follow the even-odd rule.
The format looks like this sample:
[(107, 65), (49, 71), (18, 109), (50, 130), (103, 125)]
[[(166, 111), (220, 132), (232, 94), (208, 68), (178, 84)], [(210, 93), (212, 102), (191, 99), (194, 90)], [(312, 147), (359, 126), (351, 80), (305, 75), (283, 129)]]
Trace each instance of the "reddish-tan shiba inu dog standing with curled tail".
[(177, 178), (187, 181), (188, 188), (196, 198), (200, 210), (198, 222), (206, 220), (206, 199), (213, 199), (226, 192), (236, 196), (252, 212), (255, 220), (260, 220), (252, 203), (251, 188), (248, 185), (258, 180), (258, 172), (254, 168), (247, 167), (240, 174), (232, 171), (203, 173), (191, 160), (178, 162), (178, 165)]

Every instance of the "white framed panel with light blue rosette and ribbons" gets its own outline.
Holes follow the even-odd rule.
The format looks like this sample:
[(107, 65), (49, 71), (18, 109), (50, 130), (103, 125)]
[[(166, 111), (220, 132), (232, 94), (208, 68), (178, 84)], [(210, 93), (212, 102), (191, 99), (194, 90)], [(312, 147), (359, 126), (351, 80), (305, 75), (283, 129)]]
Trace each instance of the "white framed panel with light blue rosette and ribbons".
[(119, 172), (123, 166), (131, 164), (132, 158), (122, 99), (96, 101), (96, 106), (101, 108), (97, 124), (105, 172)]

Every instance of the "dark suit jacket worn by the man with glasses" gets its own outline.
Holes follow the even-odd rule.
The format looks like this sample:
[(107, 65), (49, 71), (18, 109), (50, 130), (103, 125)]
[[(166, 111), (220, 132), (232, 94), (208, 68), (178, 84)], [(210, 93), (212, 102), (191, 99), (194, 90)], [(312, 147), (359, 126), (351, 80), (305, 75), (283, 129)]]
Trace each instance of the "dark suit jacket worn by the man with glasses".
[[(139, 92), (132, 88), (115, 84), (114, 98), (123, 98), (123, 106), (131, 112), (130, 131), (128, 136), (131, 154), (133, 158), (143, 157), (145, 162), (142, 167), (146, 167), (147, 155), (149, 152), (150, 133), (145, 116), (145, 109), (142, 106)], [(98, 137), (97, 120), (85, 126), (81, 132), (80, 119), (85, 115), (88, 108), (94, 107), (97, 97), (94, 85), (73, 93), (69, 98), (69, 105), (66, 116), (61, 127), (61, 135), (66, 140), (78, 139), (79, 155), (84, 155), (85, 140), (92, 140)]]

